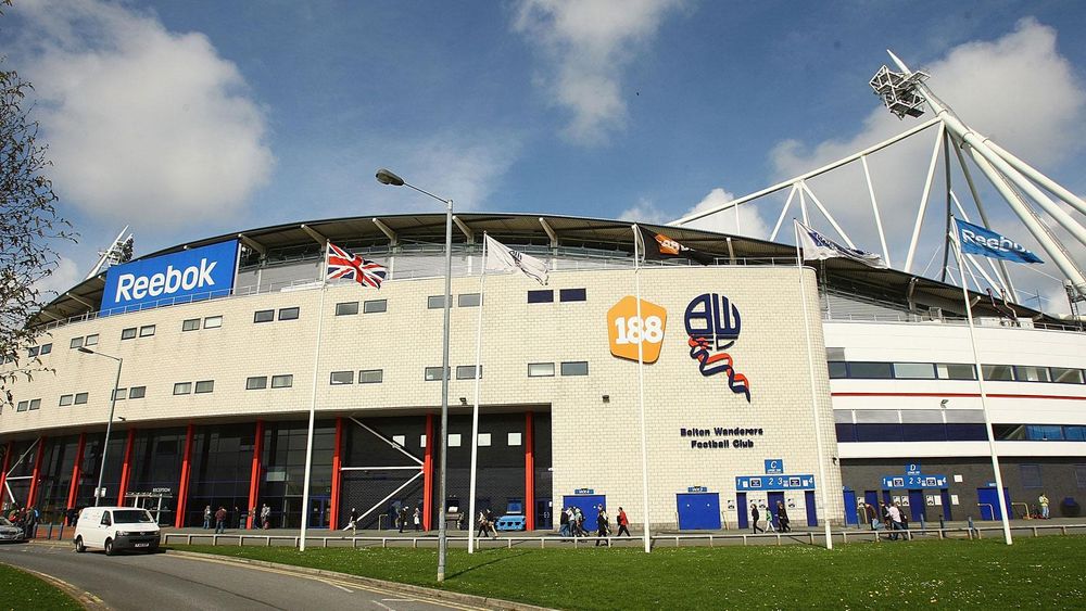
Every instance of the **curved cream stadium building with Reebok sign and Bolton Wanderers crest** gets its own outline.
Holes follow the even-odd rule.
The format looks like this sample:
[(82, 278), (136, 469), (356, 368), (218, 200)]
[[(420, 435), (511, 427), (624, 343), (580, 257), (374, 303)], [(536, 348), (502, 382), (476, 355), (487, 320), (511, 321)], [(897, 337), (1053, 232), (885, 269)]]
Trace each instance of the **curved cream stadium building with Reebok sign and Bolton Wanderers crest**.
[[(637, 270), (627, 222), (482, 213), (455, 219), (439, 499), (444, 220), (245, 230), (71, 288), (31, 321), (45, 333), (21, 355), (48, 371), (17, 382), (0, 413), (3, 505), (55, 520), (92, 505), (101, 479), (105, 502), (176, 526), (202, 524), (206, 506), (267, 504), (277, 527), (303, 511), (343, 527), (352, 508), (359, 526), (390, 527), (401, 507), (432, 527), (442, 501), (468, 507), (481, 308), (477, 502), (522, 512), (529, 530), (556, 526), (571, 504), (644, 521), (642, 405), (657, 529), (744, 527), (750, 504), (778, 500), (797, 525), (856, 523), (859, 502), (884, 498), (914, 521), (998, 513), (959, 287), (847, 258), (804, 267), (800, 281), (793, 245), (686, 227), (649, 229), (707, 265)], [(481, 297), (484, 232), (546, 262), (547, 284), (489, 272)], [(327, 242), (388, 280), (323, 282)], [(643, 328), (631, 323), (639, 292)], [(1044, 492), (1056, 514), (1077, 511), (1086, 335), (971, 297), (1011, 510)]]

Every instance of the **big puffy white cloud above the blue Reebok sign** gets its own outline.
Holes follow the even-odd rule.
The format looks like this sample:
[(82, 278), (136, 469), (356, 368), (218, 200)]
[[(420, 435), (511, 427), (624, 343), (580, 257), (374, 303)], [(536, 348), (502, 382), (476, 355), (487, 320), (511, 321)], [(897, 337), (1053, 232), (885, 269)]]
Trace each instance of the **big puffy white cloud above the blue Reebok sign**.
[(264, 111), (201, 34), (99, 0), (20, 2), (54, 186), (110, 219), (229, 218), (274, 165)]

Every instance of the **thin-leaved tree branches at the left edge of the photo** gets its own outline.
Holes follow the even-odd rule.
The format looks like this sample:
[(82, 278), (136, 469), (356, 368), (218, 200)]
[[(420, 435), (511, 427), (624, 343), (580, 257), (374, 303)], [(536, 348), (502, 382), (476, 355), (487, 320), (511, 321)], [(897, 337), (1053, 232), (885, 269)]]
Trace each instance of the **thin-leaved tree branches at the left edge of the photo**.
[(38, 283), (59, 262), (52, 244), (75, 240), (56, 213), (58, 198), (46, 175), (50, 163), (30, 116), (33, 91), (15, 71), (0, 65), (0, 406), (11, 404), (16, 379), (42, 369), (26, 352), (42, 330), (27, 322), (42, 306)]

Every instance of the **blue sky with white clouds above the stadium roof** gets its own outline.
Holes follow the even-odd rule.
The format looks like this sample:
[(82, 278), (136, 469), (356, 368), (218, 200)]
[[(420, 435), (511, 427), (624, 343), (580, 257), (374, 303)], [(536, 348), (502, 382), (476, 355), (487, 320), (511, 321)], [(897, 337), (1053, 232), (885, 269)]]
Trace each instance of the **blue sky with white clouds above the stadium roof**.
[[(971, 126), (1086, 194), (1082, 31), (1073, 0), (14, 0), (0, 54), (35, 86), (60, 208), (80, 233), (59, 246), (43, 285), (56, 290), (125, 225), (139, 255), (273, 224), (440, 212), (378, 184), (379, 167), (460, 212), (666, 222), (929, 118), (899, 120), (872, 93), (886, 49)], [(933, 143), (929, 130), (870, 158), (896, 267)], [(939, 266), (942, 175), (913, 271)], [(973, 214), (960, 171), (951, 182)], [(809, 186), (858, 247), (881, 252), (859, 166)], [(996, 229), (1036, 246), (994, 192), (982, 200)], [(783, 203), (744, 206), (738, 232), (768, 238)], [(736, 231), (731, 213), (698, 226)], [(1086, 267), (1086, 250), (1069, 250)], [(1059, 276), (1014, 271), (1040, 293), (1028, 304), (1066, 310), (1045, 273)]]

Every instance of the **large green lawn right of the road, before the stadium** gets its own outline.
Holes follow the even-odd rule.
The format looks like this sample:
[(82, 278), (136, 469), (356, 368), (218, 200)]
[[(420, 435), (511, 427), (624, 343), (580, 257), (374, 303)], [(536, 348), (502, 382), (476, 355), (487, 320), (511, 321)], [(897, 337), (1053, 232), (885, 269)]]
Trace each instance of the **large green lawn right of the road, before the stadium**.
[(820, 547), (432, 549), (173, 546), (558, 609), (1086, 608), (1086, 537)]

